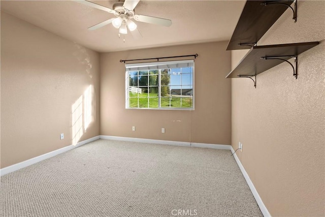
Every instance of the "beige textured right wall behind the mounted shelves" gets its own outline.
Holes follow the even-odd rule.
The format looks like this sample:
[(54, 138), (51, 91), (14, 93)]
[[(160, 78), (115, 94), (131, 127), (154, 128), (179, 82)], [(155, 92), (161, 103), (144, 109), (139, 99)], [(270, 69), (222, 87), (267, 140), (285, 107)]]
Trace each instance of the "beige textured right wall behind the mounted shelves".
[(325, 215), (324, 9), (298, 1), (297, 23), (287, 10), (257, 43), (321, 41), (298, 56), (297, 80), (287, 63), (257, 75), (256, 89), (232, 79), (232, 145), (243, 143), (236, 153), (272, 216)]

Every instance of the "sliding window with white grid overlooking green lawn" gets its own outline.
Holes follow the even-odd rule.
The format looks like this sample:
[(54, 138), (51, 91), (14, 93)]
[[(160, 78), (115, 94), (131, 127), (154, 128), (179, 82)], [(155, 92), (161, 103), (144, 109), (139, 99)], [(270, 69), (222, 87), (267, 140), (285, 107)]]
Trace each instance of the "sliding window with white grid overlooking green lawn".
[(125, 108), (194, 109), (194, 60), (125, 65)]

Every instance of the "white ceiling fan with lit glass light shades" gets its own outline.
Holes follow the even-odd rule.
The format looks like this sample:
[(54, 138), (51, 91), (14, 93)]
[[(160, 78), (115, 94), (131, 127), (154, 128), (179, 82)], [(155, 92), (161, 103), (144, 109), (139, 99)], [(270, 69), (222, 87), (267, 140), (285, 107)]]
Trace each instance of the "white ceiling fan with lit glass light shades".
[[(90, 6), (92, 8), (106, 11), (108, 13), (112, 13), (116, 16), (114, 18), (110, 18), (108, 20), (105, 20), (93, 26), (90, 26), (88, 28), (90, 30), (98, 29), (112, 23), (112, 25), (115, 28), (119, 29), (119, 34), (127, 34), (127, 29), (130, 30), (131, 32), (137, 29), (137, 24), (134, 21), (132, 21), (132, 19), (139, 22), (158, 24), (164, 26), (170, 26), (172, 24), (172, 21), (169, 19), (135, 14), (134, 9), (138, 5), (140, 0), (119, 1), (113, 5), (113, 9), (86, 0), (73, 0), (73, 1), (83, 5)], [(140, 33), (138, 32), (138, 34)]]

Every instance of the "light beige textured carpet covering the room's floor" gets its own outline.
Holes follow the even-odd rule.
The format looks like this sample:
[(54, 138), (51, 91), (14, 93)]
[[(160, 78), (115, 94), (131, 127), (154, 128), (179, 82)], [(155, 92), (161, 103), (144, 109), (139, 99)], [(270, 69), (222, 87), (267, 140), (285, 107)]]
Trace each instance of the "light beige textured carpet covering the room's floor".
[(263, 216), (230, 155), (97, 140), (2, 176), (0, 216)]

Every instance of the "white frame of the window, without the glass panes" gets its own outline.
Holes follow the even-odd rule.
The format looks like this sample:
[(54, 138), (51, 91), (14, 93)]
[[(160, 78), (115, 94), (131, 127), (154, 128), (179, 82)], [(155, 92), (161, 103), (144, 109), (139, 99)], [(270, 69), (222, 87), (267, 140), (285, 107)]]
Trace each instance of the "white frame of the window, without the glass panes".
[[(192, 67), (192, 107), (161, 107), (161, 97), (160, 89), (160, 72), (162, 69), (175, 69), (175, 68), (188, 68)], [(158, 70), (158, 108), (149, 108), (149, 107), (129, 107), (129, 88), (133, 88), (129, 86), (129, 72), (130, 71), (141, 71), (141, 70)], [(182, 73), (181, 73), (182, 75)], [(171, 86), (171, 85), (170, 85)], [(188, 85), (178, 85), (178, 86), (188, 86)], [(148, 83), (149, 87), (149, 83)], [(137, 91), (137, 89), (133, 89)], [(170, 89), (171, 90), (171, 89)], [(180, 95), (180, 98), (183, 98)], [(181, 100), (182, 102), (182, 100)], [(126, 109), (154, 109), (154, 110), (194, 110), (194, 60), (178, 60), (178, 61), (159, 61), (154, 63), (140, 63), (140, 64), (125, 64), (125, 108)]]

